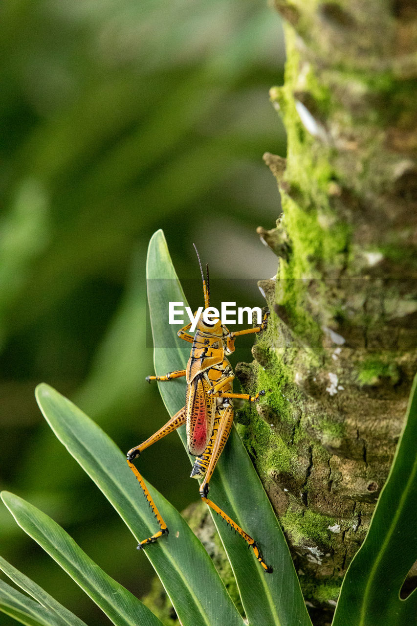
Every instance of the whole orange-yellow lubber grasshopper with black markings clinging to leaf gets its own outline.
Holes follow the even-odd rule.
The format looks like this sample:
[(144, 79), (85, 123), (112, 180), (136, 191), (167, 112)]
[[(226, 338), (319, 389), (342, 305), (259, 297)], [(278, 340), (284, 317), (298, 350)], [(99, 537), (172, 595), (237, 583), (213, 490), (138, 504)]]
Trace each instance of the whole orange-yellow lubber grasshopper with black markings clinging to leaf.
[[(195, 252), (197, 252), (197, 248), (195, 248)], [(209, 267), (208, 265), (205, 266), (207, 270), (206, 285), (198, 252), (197, 257), (203, 279), (205, 309), (209, 309)], [(220, 320), (210, 323), (207, 321), (207, 317), (206, 320), (203, 319), (202, 314), (198, 319), (195, 336), (187, 332), (190, 330), (191, 322), (177, 333), (180, 339), (193, 344), (187, 368), (168, 372), (165, 376), (147, 376), (148, 382), (165, 382), (180, 376), (185, 376), (187, 380), (187, 393), (185, 396), (185, 406), (183, 406), (165, 426), (160, 428), (157, 433), (153, 434), (152, 437), (142, 444), (132, 448), (127, 454), (128, 465), (139, 481), (143, 493), (153, 513), (155, 513), (155, 517), (160, 526), (160, 530), (155, 533), (155, 535), (141, 541), (138, 548), (143, 548), (143, 546), (148, 543), (153, 543), (163, 535), (167, 535), (168, 528), (155, 506), (142, 476), (133, 465), (132, 461), (139, 456), (145, 448), (152, 446), (155, 441), (172, 433), (178, 426), (186, 424), (188, 452), (196, 457), (191, 476), (192, 478), (203, 478), (200, 486), (200, 496), (203, 502), (222, 516), (222, 518), (247, 541), (265, 572), (272, 572), (272, 567), (269, 567), (265, 563), (256, 541), (245, 533), (245, 531), (242, 530), (229, 515), (222, 511), (219, 506), (215, 505), (214, 502), (207, 498), (209, 495), (210, 478), (212, 477), (217, 461), (219, 460), (232, 428), (234, 416), (233, 399), (241, 398), (249, 402), (257, 402), (259, 397), (265, 394), (263, 390), (257, 393), (256, 396), (233, 393), (232, 384), (235, 376), (225, 354), (234, 352), (235, 338), (237, 336), (264, 330), (267, 324), (267, 316), (268, 314), (265, 314), (264, 321), (259, 327), (250, 328), (245, 331), (229, 332), (229, 329), (227, 329)]]

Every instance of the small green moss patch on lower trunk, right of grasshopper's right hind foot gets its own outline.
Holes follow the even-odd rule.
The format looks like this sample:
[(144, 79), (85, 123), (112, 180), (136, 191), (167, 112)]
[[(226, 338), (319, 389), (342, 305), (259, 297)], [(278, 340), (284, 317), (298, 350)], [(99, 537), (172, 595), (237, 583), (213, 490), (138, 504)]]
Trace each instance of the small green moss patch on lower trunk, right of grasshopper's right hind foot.
[(312, 541), (321, 545), (330, 545), (331, 532), (328, 526), (334, 525), (334, 520), (327, 515), (320, 515), (308, 509), (290, 511), (281, 518), (284, 530), (291, 535), (292, 543), (307, 545)]

